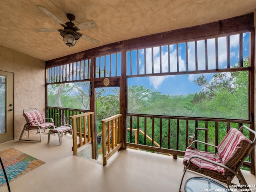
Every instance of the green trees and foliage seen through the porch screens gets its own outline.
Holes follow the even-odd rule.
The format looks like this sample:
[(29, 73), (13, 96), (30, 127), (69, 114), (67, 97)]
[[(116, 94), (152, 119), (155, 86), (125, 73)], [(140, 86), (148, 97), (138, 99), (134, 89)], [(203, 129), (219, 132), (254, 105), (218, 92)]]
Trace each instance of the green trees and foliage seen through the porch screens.
[[(246, 58), (244, 66), (248, 65), (249, 58)], [(187, 95), (164, 95), (146, 86), (130, 86), (128, 87), (128, 113), (248, 119), (248, 71), (215, 73), (211, 80), (202, 74), (194, 83), (201, 87), (200, 92)], [(101, 132), (100, 120), (119, 113), (119, 90), (97, 88), (96, 96), (96, 125), (97, 132)], [(48, 86), (48, 106), (89, 110), (89, 82)], [(146, 135), (155, 142), (161, 143), (163, 148), (185, 150), (186, 120), (163, 118), (162, 126), (160, 121), (160, 118), (133, 117), (130, 124), (131, 120), (128, 117), (127, 127), (146, 132)], [(195, 120), (188, 121), (188, 135), (195, 134), (195, 124)], [(217, 141), (216, 126), (218, 126)], [(230, 123), (230, 126), (238, 128), (238, 123)], [(206, 127), (205, 121), (198, 121), (198, 127)], [(227, 124), (224, 122), (219, 122), (218, 125), (215, 122), (208, 122), (207, 128), (207, 132), (198, 130), (198, 140), (205, 141), (205, 134), (207, 134), (207, 142), (214, 145), (218, 145), (227, 132)], [(248, 135), (247, 132), (245, 134)], [(128, 142), (136, 142), (134, 131), (132, 134), (128, 131), (127, 135)], [(152, 140), (145, 138), (145, 135), (139, 133), (138, 143), (152, 146)], [(153, 146), (156, 145), (153, 143)], [(198, 146), (200, 150), (205, 148), (202, 144)], [(101, 148), (100, 145), (99, 148)], [(215, 152), (215, 148), (212, 147), (208, 147), (207, 150)]]

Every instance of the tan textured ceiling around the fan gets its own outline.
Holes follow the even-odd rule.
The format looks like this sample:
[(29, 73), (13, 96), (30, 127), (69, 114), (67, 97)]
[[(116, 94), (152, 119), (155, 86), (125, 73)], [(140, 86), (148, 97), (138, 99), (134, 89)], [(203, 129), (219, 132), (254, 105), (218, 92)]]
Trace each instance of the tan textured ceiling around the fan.
[[(66, 13), (76, 16), (75, 24), (94, 20), (96, 27), (79, 32), (99, 40), (100, 44), (80, 38), (74, 47), (68, 48), (59, 32), (34, 31), (34, 28), (63, 29), (36, 5), (47, 8), (64, 23), (68, 21)], [(255, 10), (256, 0), (0, 0), (0, 45), (46, 61)]]

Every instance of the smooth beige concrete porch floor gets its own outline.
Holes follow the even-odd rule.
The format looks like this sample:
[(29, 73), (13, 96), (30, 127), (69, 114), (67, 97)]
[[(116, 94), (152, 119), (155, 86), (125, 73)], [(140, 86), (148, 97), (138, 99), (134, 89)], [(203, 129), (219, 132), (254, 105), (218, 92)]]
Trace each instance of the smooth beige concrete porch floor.
[[(41, 143), (14, 140), (0, 144), (0, 150), (10, 147), (46, 162), (10, 182), (12, 192), (178, 192), (183, 173), (182, 158), (132, 149), (121, 150), (102, 166), (96, 160), (73, 156), (70, 135), (64, 135), (61, 146), (57, 135), (47, 144), (47, 134)], [(248, 184), (256, 184), (256, 176), (248, 171), (243, 174)], [(183, 192), (185, 181), (193, 176), (202, 175), (188, 171)], [(7, 185), (0, 188), (0, 192), (7, 191)]]

